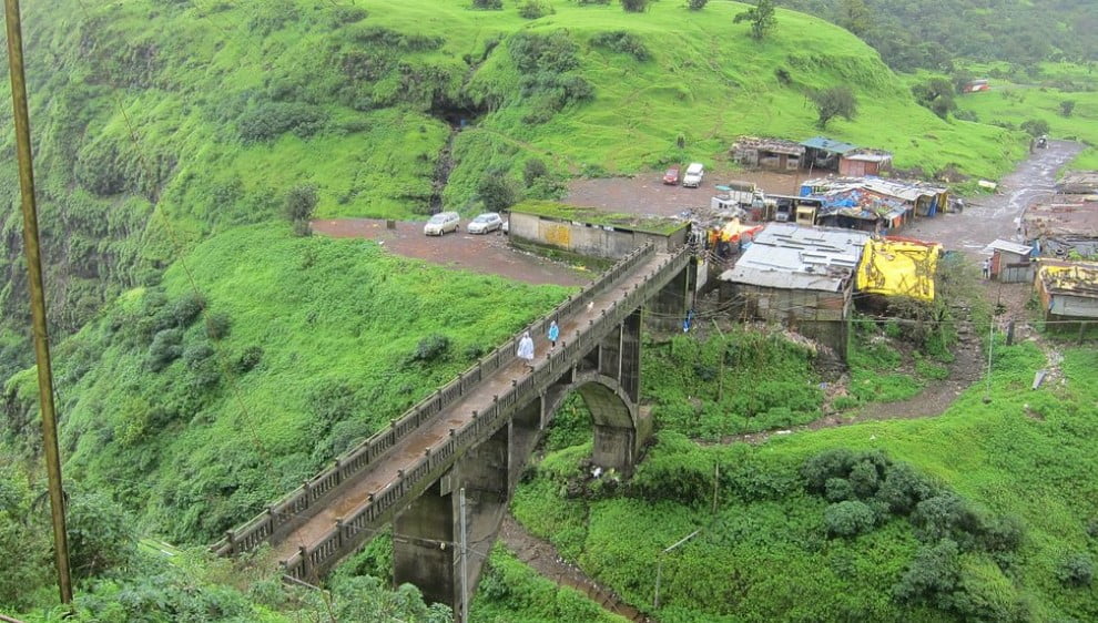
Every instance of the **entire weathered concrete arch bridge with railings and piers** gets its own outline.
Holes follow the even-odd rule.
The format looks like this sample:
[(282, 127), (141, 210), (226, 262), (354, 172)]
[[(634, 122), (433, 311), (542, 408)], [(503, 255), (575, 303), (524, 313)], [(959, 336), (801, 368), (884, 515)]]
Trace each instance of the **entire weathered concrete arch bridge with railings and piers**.
[(693, 285), (687, 247), (633, 251), (529, 327), (561, 327), (556, 349), (537, 340), (532, 371), (515, 357), (516, 336), (213, 550), (270, 542), (286, 576), (315, 583), (392, 523), (396, 583), (462, 620), (518, 478), (571, 391), (594, 420), (593, 462), (632, 472), (652, 432), (638, 408), (641, 320), (649, 309), (678, 325)]

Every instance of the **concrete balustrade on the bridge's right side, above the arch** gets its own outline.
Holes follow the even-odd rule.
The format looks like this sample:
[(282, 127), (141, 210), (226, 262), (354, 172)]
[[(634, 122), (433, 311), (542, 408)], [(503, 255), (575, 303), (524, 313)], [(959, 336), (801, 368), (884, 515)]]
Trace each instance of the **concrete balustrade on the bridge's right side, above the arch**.
[[(661, 264), (653, 277), (677, 274), (690, 261), (690, 254), (680, 252)], [(614, 297), (609, 312), (603, 312), (583, 330), (578, 339), (565, 341), (562, 348), (551, 353), (548, 365), (537, 368), (521, 381), (500, 395), (487, 409), (474, 411), (472, 419), (462, 427), (449, 430), (446, 440), (427, 448), (424, 456), (407, 471), (398, 472), (397, 477), (386, 483), (377, 493), (367, 497), (366, 501), (352, 513), (343, 518), (321, 540), (311, 547), (302, 547), (283, 561), (284, 573), (297, 580), (307, 581), (313, 570), (326, 569), (346, 554), (347, 548), (356, 547), (365, 540), (362, 534), (369, 533), (373, 527), (400, 503), (401, 499), (416, 489), (424, 489), (433, 479), (438, 477), (440, 469), (447, 468), (461, 450), (469, 448), (478, 439), (484, 439), (498, 430), (518, 404), (531, 395), (550, 386), (561, 374), (562, 369), (575, 362), (598, 344), (609, 330), (621, 323), (626, 315), (640, 307), (655, 287), (655, 278), (629, 290), (620, 299)]]

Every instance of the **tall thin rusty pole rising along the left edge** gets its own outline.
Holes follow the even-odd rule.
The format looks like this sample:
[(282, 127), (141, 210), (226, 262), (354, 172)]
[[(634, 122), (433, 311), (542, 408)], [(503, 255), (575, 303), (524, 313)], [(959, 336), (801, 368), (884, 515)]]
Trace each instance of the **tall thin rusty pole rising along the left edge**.
[(23, 251), (30, 273), (31, 323), (34, 357), (38, 361), (38, 396), (42, 411), (45, 471), (49, 474), (50, 510), (53, 514), (53, 552), (58, 569), (61, 603), (72, 603), (69, 571), (69, 539), (64, 527), (64, 493), (61, 488), (61, 459), (58, 450), (58, 420), (53, 408), (53, 370), (50, 366), (50, 336), (45, 324), (45, 295), (42, 286), (42, 256), (38, 237), (38, 208), (34, 205), (34, 167), (31, 162), (30, 115), (27, 112), (27, 78), (23, 74), (23, 33), (19, 0), (4, 0), (8, 27), (8, 68), (16, 119), (16, 153), (19, 156), (19, 190), (23, 208)]

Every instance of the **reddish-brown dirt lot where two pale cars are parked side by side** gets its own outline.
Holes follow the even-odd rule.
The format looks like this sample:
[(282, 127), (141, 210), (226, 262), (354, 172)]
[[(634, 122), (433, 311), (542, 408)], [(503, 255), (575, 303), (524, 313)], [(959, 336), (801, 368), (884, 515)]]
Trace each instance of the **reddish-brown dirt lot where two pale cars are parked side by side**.
[(567, 264), (516, 251), (507, 244), (507, 236), (500, 234), (474, 236), (459, 231), (428, 237), (424, 235), (423, 223), (398, 221), (393, 229), (385, 223), (376, 218), (340, 218), (313, 221), (309, 226), (325, 236), (377, 241), (397, 255), (528, 284), (580, 286), (594, 277)]

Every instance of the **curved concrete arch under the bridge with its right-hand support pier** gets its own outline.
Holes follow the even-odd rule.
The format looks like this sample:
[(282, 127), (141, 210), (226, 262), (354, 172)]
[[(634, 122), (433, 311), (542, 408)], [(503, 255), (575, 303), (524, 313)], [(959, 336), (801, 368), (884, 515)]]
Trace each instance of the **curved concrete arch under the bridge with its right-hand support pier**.
[(591, 412), (594, 442), (591, 460), (630, 476), (641, 449), (652, 436), (652, 418), (640, 409), (617, 379), (596, 370), (575, 372), (546, 394), (547, 422), (572, 392), (579, 394)]

